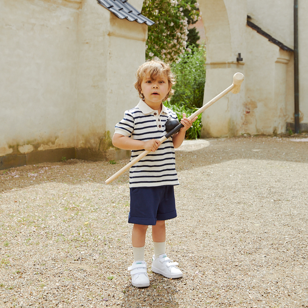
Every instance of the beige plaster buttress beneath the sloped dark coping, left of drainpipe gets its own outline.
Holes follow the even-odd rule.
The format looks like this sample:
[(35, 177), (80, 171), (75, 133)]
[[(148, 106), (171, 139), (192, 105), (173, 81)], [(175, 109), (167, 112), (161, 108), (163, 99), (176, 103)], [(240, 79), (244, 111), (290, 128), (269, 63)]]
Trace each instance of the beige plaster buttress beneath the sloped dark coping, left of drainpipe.
[(290, 53), (246, 27), (249, 45), (245, 71), (243, 128), (246, 133), (275, 134), (286, 130), (286, 78)]

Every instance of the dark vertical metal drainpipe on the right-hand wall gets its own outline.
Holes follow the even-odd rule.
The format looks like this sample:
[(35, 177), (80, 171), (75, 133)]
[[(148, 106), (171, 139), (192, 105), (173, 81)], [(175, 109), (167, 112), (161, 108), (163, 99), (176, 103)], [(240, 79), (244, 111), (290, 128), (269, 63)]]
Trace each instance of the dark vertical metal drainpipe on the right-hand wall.
[(298, 0), (294, 0), (294, 129), (299, 133)]

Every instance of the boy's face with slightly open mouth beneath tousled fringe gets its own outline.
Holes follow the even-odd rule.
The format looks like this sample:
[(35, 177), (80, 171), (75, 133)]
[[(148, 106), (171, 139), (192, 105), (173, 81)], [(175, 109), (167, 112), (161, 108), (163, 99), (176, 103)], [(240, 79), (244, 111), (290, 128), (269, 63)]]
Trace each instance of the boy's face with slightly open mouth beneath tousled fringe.
[[(166, 76), (158, 77), (156, 80), (152, 80), (149, 74), (142, 80), (141, 93), (144, 95), (144, 101), (152, 109), (156, 105), (160, 105), (163, 99), (170, 91), (168, 78)], [(153, 106), (153, 107), (152, 107)]]

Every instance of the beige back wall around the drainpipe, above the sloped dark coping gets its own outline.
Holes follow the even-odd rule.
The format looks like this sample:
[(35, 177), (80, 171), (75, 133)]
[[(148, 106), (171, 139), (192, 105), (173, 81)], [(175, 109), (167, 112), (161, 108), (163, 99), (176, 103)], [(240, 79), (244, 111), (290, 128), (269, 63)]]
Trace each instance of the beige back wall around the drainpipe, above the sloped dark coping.
[[(247, 0), (247, 12), (262, 30), (268, 32), (286, 46), (294, 48), (294, 1), (293, 0)], [(298, 0), (298, 41), (299, 41), (299, 109), (300, 122), (308, 122), (308, 2)], [(287, 106), (286, 121), (294, 122), (294, 70), (293, 58), (287, 70)]]

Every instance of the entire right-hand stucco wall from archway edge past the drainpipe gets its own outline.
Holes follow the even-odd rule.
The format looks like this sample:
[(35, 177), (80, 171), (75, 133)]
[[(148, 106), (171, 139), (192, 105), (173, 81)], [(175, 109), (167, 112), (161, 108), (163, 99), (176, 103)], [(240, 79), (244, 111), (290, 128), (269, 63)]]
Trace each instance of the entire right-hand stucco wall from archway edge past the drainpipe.
[[(250, 15), (262, 30), (293, 48), (293, 0), (282, 2), (200, 0), (207, 47), (204, 104), (229, 85), (236, 71), (245, 75), (240, 95), (228, 94), (204, 112), (201, 136), (276, 134), (294, 121), (293, 53), (246, 25)], [(299, 0), (301, 122), (308, 117), (307, 6)], [(242, 62), (236, 61), (238, 53)]]

